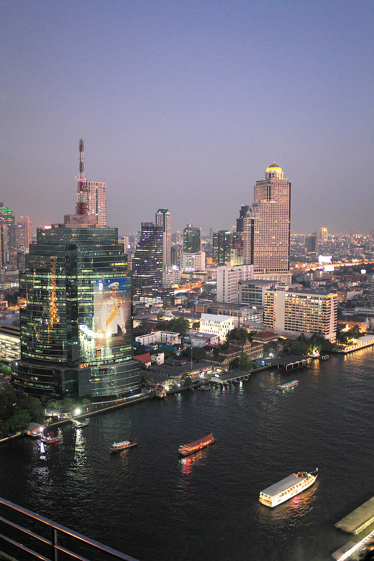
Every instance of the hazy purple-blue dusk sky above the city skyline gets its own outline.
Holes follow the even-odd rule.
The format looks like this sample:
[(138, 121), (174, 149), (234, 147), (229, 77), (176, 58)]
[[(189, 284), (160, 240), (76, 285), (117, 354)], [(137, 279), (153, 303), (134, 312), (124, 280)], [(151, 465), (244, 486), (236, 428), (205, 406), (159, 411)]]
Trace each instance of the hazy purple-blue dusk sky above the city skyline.
[(0, 3), (0, 202), (75, 212), (78, 145), (120, 234), (236, 225), (274, 161), (291, 232), (373, 218), (373, 3)]

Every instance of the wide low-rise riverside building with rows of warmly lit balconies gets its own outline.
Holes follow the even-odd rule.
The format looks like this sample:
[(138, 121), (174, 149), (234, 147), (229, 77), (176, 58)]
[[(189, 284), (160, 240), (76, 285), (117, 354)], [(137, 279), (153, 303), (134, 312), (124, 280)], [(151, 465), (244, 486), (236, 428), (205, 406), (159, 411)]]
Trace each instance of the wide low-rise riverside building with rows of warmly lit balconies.
[(276, 286), (265, 294), (263, 321), (280, 335), (318, 333), (325, 339), (335, 339), (337, 294)]

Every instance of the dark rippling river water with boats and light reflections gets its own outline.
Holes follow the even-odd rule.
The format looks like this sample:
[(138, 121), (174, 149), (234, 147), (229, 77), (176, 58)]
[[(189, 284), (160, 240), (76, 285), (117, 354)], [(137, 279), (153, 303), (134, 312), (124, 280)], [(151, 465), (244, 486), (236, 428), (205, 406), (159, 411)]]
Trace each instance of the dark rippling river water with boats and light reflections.
[[(289, 392), (277, 384), (299, 379)], [(141, 560), (328, 560), (350, 540), (334, 523), (373, 495), (374, 350), (231, 388), (92, 417), (40, 454), (0, 448), (0, 495)], [(180, 458), (180, 444), (216, 442)], [(110, 454), (115, 440), (138, 447)], [(259, 491), (293, 471), (316, 483), (274, 509)]]

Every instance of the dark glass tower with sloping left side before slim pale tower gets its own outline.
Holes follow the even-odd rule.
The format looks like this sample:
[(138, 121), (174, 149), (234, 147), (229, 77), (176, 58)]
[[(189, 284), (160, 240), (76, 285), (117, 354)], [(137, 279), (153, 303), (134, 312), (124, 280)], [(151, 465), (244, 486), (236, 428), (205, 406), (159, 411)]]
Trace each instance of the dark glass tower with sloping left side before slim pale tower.
[(153, 222), (142, 222), (142, 232), (133, 257), (134, 294), (142, 295), (162, 287), (163, 229)]

